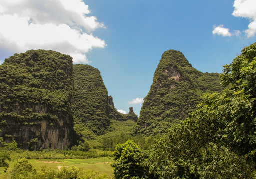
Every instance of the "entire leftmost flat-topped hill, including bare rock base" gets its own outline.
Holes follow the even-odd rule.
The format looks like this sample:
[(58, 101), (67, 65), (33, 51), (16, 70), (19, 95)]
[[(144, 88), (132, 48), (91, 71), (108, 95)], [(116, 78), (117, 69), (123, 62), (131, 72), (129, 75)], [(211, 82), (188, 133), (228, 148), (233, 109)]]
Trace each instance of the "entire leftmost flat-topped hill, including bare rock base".
[(72, 58), (29, 50), (0, 65), (0, 136), (18, 147), (64, 149), (72, 143)]

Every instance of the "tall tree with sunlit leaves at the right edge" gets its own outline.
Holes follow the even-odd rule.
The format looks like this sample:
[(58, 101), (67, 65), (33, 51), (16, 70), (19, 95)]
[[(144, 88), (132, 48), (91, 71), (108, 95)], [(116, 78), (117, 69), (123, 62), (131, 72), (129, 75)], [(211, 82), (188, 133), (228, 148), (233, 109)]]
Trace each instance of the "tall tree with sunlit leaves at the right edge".
[[(223, 141), (256, 163), (256, 43), (245, 47), (221, 74), (223, 93)], [(227, 112), (228, 111), (228, 112)]]

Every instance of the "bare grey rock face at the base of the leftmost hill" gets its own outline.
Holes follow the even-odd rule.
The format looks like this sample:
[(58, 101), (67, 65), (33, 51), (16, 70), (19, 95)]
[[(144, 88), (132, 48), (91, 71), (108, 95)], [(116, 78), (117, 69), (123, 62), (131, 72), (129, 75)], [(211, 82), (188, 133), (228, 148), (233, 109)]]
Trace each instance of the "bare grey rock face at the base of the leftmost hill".
[(51, 123), (47, 119), (35, 120), (33, 122), (15, 122), (12, 119), (4, 120), (0, 129), (0, 136), (7, 142), (13, 138), (18, 147), (29, 150), (40, 148), (64, 149), (72, 144), (73, 129), (72, 123), (60, 118), (57, 123)]

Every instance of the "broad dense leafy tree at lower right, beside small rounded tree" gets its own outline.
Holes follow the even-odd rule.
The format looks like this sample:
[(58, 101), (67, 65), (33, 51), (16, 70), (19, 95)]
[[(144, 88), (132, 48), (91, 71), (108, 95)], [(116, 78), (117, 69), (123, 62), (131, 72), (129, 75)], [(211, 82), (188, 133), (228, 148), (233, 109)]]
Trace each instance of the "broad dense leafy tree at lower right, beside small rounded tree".
[(204, 106), (199, 118), (172, 126), (170, 133), (152, 147), (146, 163), (159, 179), (251, 179), (254, 165), (232, 152), (219, 138), (215, 111)]

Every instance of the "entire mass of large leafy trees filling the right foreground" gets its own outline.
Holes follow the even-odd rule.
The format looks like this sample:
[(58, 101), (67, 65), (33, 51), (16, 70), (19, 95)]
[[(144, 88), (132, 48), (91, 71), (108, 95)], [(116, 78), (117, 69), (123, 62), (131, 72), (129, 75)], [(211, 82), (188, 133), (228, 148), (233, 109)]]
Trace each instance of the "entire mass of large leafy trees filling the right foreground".
[(226, 88), (204, 98), (152, 148), (149, 172), (160, 179), (255, 179), (256, 43), (224, 66)]

